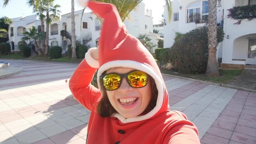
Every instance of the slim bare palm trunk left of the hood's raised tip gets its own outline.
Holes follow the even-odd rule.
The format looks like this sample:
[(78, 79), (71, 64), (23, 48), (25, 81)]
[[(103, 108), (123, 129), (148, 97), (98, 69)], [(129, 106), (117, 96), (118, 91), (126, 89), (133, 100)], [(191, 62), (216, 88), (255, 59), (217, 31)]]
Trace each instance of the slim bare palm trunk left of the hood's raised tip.
[(72, 56), (71, 59), (77, 59), (76, 56), (76, 23), (75, 23), (75, 9), (74, 9), (74, 0), (71, 0), (71, 38), (72, 38)]

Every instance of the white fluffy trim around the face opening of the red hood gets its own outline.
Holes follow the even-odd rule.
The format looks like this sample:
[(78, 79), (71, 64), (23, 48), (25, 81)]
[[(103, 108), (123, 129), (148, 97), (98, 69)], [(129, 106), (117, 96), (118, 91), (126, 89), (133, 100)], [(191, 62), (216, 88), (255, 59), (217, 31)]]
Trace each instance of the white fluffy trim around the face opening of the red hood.
[[(163, 100), (164, 100), (164, 87), (161, 78), (158, 76), (158, 74), (149, 66), (142, 64), (140, 62), (136, 62), (133, 60), (115, 60), (111, 62), (107, 62), (103, 64), (97, 74), (97, 80), (98, 84), (100, 84), (100, 76), (102, 73), (110, 68), (117, 68), (117, 67), (125, 67), (125, 68), (134, 68), (136, 70), (140, 70), (143, 72), (146, 72), (148, 75), (150, 75), (156, 83), (156, 88), (158, 90), (158, 96), (157, 96), (157, 101), (156, 101), (156, 106), (154, 107), (153, 110), (148, 112), (147, 114), (143, 116), (136, 116), (132, 118), (124, 118), (122, 115), (115, 113), (112, 116), (118, 118), (122, 123), (129, 123), (129, 122), (138, 122), (142, 120), (147, 120), (154, 116), (162, 107)], [(99, 88), (101, 89), (101, 86), (99, 85)]]

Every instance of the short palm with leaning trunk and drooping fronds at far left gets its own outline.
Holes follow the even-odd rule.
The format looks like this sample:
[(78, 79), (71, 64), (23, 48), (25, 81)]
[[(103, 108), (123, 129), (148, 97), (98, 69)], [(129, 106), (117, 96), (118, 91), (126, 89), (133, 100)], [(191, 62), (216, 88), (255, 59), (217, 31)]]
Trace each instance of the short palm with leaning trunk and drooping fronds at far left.
[(37, 33), (37, 29), (36, 29), (35, 26), (32, 26), (32, 27), (28, 28), (28, 30), (29, 30), (29, 32), (23, 32), (23, 34), (25, 34), (26, 36), (22, 37), (21, 40), (22, 41), (25, 41), (25, 40), (34, 41), (35, 46), (36, 46), (36, 51), (38, 52), (38, 55), (42, 56), (43, 53), (39, 49), (37, 41), (40, 40), (42, 37), (44, 37), (44, 33), (42, 33), (42, 32)]

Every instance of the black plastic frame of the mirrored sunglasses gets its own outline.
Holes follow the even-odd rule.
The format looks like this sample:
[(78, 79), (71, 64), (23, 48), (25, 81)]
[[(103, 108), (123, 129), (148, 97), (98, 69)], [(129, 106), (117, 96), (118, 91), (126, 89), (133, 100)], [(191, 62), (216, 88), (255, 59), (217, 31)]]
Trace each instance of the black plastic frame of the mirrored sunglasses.
[[(121, 80), (120, 80), (120, 83), (119, 83), (119, 85), (118, 85), (118, 87), (117, 87), (116, 89), (114, 89), (114, 90), (117, 90), (117, 89), (120, 87), (120, 85), (122, 84), (123, 78), (126, 79), (127, 83), (128, 83), (132, 88), (143, 88), (143, 87), (145, 87), (145, 86), (148, 84), (148, 74), (147, 74), (146, 72), (144, 72), (144, 73), (146, 73), (146, 75), (147, 75), (147, 81), (146, 81), (145, 86), (142, 86), (142, 87), (133, 87), (133, 86), (130, 84), (129, 80), (128, 80), (128, 75), (129, 75), (130, 73), (132, 73), (132, 72), (142, 72), (142, 71), (140, 71), (140, 70), (132, 70), (132, 71), (127, 72), (127, 73), (125, 73), (125, 74), (118, 74), (118, 73), (114, 73), (114, 72), (113, 72), (113, 73), (109, 73), (109, 74), (117, 74), (118, 76), (120, 76), (120, 79), (121, 79)], [(101, 76), (100, 76), (100, 80), (102, 81), (102, 85), (103, 85), (104, 89), (105, 89), (105, 90), (108, 90), (108, 89), (106, 89), (106, 87), (104, 86), (104, 82), (103, 82), (103, 78), (104, 78), (104, 76), (106, 76), (106, 75), (108, 75), (108, 74), (101, 75)], [(109, 90), (109, 91), (112, 91), (112, 90)]]

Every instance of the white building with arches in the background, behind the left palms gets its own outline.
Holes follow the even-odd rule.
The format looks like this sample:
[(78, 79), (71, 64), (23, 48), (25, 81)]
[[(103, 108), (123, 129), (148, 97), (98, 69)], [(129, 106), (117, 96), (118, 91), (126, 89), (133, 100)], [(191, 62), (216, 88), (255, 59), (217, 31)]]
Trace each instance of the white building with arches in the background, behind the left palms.
[[(152, 12), (151, 10), (145, 11), (144, 3), (141, 2), (135, 11), (130, 12), (130, 18), (124, 21), (130, 34), (135, 37), (139, 34), (147, 34), (151, 36), (152, 44), (157, 44), (160, 35), (151, 34), (153, 32)], [(9, 26), (9, 42), (12, 51), (19, 51), (18, 45), (22, 43), (21, 38), (24, 36), (22, 33), (31, 26), (35, 26), (40, 31), (41, 22), (36, 19), (35, 15), (13, 18), (12, 20), (13, 23)], [(79, 10), (75, 12), (75, 22), (76, 40), (80, 41), (81, 44), (86, 44), (89, 48), (95, 47), (102, 26), (100, 20), (92, 12), (84, 13), (82, 16), (82, 10)], [(54, 20), (49, 27), (49, 46), (62, 46), (63, 52), (66, 52), (70, 40), (64, 37), (62, 42), (61, 30), (66, 30), (71, 34), (71, 13), (62, 15), (60, 20)], [(46, 31), (46, 24), (44, 31)], [(39, 48), (42, 48), (42, 42), (38, 42), (38, 45)]]

